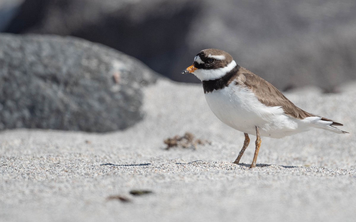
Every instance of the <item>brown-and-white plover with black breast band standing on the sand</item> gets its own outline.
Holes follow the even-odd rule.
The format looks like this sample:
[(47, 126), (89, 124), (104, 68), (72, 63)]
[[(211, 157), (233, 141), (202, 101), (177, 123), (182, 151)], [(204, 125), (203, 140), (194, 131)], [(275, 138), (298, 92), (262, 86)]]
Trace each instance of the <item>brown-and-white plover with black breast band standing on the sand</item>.
[(289, 101), (271, 83), (236, 64), (229, 53), (205, 49), (182, 74), (192, 72), (203, 82), (206, 101), (226, 125), (244, 132), (244, 145), (234, 163), (239, 164), (250, 138), (256, 136), (251, 168), (256, 167), (261, 136), (282, 138), (320, 128), (345, 134), (333, 120), (305, 112)]

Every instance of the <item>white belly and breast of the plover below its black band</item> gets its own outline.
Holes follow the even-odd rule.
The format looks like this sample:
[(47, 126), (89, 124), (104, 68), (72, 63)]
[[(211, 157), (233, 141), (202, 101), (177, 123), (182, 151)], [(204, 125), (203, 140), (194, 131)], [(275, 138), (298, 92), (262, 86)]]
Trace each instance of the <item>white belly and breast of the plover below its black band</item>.
[(211, 111), (226, 125), (252, 135), (258, 126), (261, 136), (273, 138), (308, 130), (298, 129), (300, 120), (285, 115), (281, 107), (267, 107), (249, 89), (231, 84), (205, 94)]

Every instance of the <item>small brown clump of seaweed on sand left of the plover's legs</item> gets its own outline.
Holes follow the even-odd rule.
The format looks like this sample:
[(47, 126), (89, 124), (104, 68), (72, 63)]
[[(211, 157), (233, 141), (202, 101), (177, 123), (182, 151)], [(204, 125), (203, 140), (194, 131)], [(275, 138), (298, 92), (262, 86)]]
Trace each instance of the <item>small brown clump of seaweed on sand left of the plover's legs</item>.
[(164, 141), (164, 144), (167, 145), (166, 150), (169, 150), (172, 147), (182, 147), (190, 148), (193, 147), (194, 150), (197, 149), (197, 145), (211, 144), (210, 141), (194, 139), (194, 135), (191, 132), (185, 132), (184, 136), (174, 136), (173, 138), (167, 138)]

